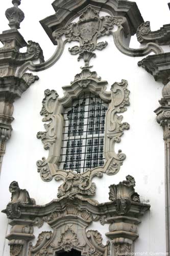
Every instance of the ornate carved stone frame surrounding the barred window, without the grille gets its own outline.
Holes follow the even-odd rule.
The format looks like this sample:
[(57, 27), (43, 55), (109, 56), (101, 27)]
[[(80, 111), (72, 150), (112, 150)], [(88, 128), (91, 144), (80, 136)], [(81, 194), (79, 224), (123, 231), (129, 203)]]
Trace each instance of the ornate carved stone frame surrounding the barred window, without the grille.
[[(124, 130), (129, 129), (129, 124), (122, 122), (123, 113), (129, 105), (128, 83), (122, 80), (120, 83), (114, 83), (111, 91), (106, 91), (106, 81), (101, 81), (96, 72), (89, 69), (75, 76), (74, 82), (70, 86), (63, 87), (64, 97), (59, 98), (55, 90), (45, 90), (45, 98), (42, 101), (43, 121), (50, 121), (45, 124), (45, 132), (39, 132), (37, 138), (40, 138), (44, 144), (45, 150), (49, 150), (48, 158), (42, 158), (37, 161), (38, 172), (43, 181), (51, 181), (54, 177), (56, 180), (63, 179), (64, 183), (59, 187), (58, 197), (65, 195), (93, 196), (95, 194), (95, 184), (91, 182), (94, 176), (102, 177), (103, 173), (114, 175), (118, 172), (120, 165), (126, 158), (122, 151), (115, 152), (115, 143), (120, 142), (120, 137)], [(105, 119), (105, 138), (104, 138), (104, 166), (87, 169), (83, 174), (76, 174), (72, 170), (63, 170), (59, 168), (62, 133), (64, 126), (63, 113), (64, 108), (69, 106), (73, 99), (76, 99), (84, 92), (91, 92), (93, 95), (100, 97), (108, 103), (108, 110)]]

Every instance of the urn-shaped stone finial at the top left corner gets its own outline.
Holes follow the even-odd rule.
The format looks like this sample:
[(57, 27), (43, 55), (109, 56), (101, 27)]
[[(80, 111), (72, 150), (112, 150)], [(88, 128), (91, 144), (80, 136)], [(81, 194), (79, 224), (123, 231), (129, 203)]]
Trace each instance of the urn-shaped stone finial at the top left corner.
[(9, 20), (9, 27), (11, 29), (19, 29), (19, 25), (25, 17), (22, 10), (18, 8), (20, 2), (21, 0), (12, 0), (13, 7), (8, 8), (5, 12), (6, 17)]

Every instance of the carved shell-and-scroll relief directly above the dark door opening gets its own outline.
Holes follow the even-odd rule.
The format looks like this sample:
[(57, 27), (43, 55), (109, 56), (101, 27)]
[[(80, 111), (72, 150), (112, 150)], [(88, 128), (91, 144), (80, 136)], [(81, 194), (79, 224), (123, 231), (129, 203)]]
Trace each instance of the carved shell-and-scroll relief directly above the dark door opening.
[[(110, 251), (110, 242), (107, 242), (106, 245), (102, 244), (102, 236), (96, 230), (88, 230), (85, 232), (85, 227), (80, 227), (79, 224), (64, 224), (60, 226), (57, 230), (61, 231), (60, 236), (56, 237), (56, 231), (54, 233), (51, 231), (41, 232), (38, 236), (38, 241), (35, 246), (30, 246), (29, 255), (35, 256), (45, 256), (48, 255), (51, 250), (66, 252), (71, 251), (72, 249), (77, 249), (83, 251), (87, 255), (102, 256), (109, 254)], [(53, 241), (53, 242), (52, 242)]]

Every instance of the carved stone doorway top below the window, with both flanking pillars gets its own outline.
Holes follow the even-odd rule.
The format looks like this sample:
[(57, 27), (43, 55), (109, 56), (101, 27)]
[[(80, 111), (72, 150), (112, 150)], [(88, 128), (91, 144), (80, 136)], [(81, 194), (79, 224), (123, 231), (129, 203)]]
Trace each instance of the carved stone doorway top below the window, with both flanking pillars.
[[(42, 256), (53, 255), (58, 252), (79, 251), (82, 255), (107, 256), (110, 255), (110, 242), (102, 243), (102, 236), (98, 230), (89, 230), (93, 221), (103, 219), (109, 224), (106, 236), (111, 239), (114, 256), (123, 256), (133, 251), (133, 243), (138, 238), (138, 219), (150, 205), (134, 200), (135, 180), (128, 175), (127, 180), (110, 187), (111, 202), (98, 203), (85, 198), (54, 199), (45, 205), (35, 205), (26, 189), (19, 189), (17, 182), (12, 182), (10, 192), (12, 203), (18, 203), (19, 216), (11, 216), (12, 229), (7, 235), (10, 245), (10, 255)], [(113, 196), (112, 187), (117, 192)], [(119, 215), (117, 199), (128, 199), (128, 211)], [(9, 203), (9, 204), (10, 204)], [(9, 205), (8, 204), (8, 205)], [(8, 205), (3, 211), (8, 216)], [(33, 226), (41, 227), (47, 223), (52, 231), (42, 231), (35, 245), (29, 243), (34, 238)]]

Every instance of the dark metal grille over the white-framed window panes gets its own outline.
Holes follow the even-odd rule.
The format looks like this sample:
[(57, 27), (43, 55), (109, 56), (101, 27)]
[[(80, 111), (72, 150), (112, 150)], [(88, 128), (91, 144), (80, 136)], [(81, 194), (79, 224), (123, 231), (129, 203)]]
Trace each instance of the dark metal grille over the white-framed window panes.
[(84, 93), (65, 109), (61, 169), (83, 173), (87, 168), (103, 166), (107, 109), (108, 104), (91, 93)]

